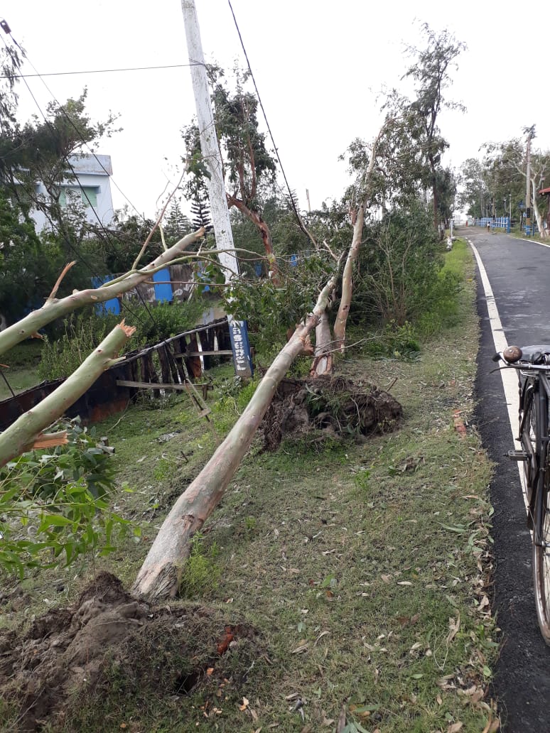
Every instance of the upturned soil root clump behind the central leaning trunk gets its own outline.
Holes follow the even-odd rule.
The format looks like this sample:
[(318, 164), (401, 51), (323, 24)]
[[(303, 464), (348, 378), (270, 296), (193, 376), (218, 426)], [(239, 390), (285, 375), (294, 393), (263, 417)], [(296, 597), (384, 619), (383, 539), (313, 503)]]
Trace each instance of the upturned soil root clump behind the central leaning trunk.
[(370, 383), (353, 383), (342, 376), (284, 379), (265, 413), (265, 449), (273, 451), (283, 437), (319, 436), (366, 438), (392, 432), (403, 408), (389, 392)]

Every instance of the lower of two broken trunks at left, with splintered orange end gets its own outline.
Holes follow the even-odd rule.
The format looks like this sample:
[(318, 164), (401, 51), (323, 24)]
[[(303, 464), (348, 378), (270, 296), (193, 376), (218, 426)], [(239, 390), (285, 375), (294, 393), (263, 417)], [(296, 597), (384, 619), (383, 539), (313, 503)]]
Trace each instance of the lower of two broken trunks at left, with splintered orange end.
[(122, 359), (115, 358), (115, 354), (120, 351), (134, 331), (136, 329), (125, 325), (124, 321), (115, 326), (98, 348), (76, 369), (76, 372), (73, 372), (56, 390), (48, 394), (48, 397), (45, 397), (32, 410), (21, 415), (1, 433), (0, 466), (30, 450), (39, 436), (42, 442), (47, 443), (48, 437), (52, 440), (55, 437), (57, 445), (63, 442), (60, 440), (62, 435), (59, 433), (48, 436), (41, 435), (41, 432), (61, 417), (65, 410), (92, 386), (105, 369), (122, 361)]

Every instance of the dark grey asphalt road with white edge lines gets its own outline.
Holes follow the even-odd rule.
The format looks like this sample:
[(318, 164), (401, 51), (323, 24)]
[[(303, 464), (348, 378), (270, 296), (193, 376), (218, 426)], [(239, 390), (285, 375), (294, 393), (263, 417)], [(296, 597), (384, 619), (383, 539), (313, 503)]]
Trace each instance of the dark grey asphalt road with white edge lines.
[[(477, 248), (491, 282), (508, 344), (550, 344), (550, 248), (484, 229), (462, 229)], [(516, 463), (504, 457), (511, 441), (502, 380), (491, 357), (494, 342), (478, 273), (481, 342), (477, 369), (477, 427), (496, 464), (494, 611), (502, 630), (494, 695), (506, 733), (550, 732), (550, 647), (537, 624), (531, 543)], [(493, 373), (491, 373), (493, 372)]]

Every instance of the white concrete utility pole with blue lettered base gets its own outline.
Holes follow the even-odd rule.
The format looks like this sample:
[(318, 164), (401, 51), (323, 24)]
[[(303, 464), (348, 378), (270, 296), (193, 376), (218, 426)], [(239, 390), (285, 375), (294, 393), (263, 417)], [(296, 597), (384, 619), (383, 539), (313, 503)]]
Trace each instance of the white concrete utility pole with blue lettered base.
[[(183, 12), (183, 22), (186, 26), (187, 51), (191, 64), (191, 81), (193, 82), (195, 106), (197, 108), (200, 147), (205, 166), (210, 173), (208, 195), (214, 235), (216, 235), (216, 249), (219, 250), (218, 257), (224, 268), (225, 281), (229, 282), (233, 276), (238, 276), (239, 266), (235, 255), (235, 245), (233, 244), (224, 174), (221, 168), (221, 155), (210, 104), (205, 56), (202, 53), (199, 21), (194, 0), (182, 0), (181, 10)], [(246, 322), (234, 320), (231, 316), (228, 316), (228, 320), (235, 372), (238, 377), (250, 377), (252, 376), (252, 358), (250, 356)]]

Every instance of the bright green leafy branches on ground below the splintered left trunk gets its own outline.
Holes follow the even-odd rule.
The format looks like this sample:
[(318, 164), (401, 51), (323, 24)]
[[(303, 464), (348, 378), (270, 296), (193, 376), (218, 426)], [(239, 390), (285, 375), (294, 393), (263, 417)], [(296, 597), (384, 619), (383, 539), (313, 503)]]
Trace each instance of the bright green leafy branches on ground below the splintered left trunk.
[(58, 427), (68, 431), (67, 446), (25, 453), (0, 469), (0, 572), (22, 578), (32, 567), (106, 554), (131, 526), (109, 507), (114, 465), (103, 439), (78, 421)]

